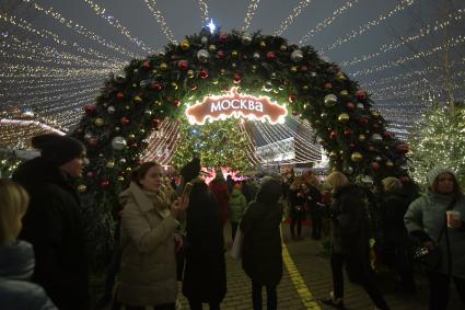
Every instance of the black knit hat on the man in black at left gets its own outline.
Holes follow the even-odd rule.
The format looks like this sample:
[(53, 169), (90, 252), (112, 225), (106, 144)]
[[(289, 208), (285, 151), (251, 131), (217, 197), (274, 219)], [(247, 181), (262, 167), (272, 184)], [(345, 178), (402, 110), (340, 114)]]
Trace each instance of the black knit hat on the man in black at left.
[(81, 141), (55, 134), (35, 136), (31, 142), (35, 149), (40, 150), (42, 158), (57, 167), (81, 157), (85, 151)]

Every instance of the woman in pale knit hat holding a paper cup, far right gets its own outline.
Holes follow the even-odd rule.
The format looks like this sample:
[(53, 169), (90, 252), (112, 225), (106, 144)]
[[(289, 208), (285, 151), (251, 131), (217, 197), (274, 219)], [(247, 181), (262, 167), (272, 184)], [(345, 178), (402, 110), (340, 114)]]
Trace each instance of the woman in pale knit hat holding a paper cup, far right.
[[(427, 179), (429, 191), (410, 204), (404, 222), (412, 238), (441, 252), (439, 266), (428, 268), (429, 309), (447, 308), (451, 279), (465, 306), (465, 198), (451, 170), (434, 168)], [(457, 216), (447, 220), (447, 209)]]

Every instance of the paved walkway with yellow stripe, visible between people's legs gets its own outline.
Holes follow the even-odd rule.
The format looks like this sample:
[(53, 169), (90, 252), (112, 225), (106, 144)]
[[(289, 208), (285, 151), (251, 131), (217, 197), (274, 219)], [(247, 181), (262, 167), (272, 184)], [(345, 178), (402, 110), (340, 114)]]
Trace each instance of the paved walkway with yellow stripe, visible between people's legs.
[[(231, 236), (230, 227), (224, 228), (226, 239)], [(303, 229), (304, 240), (291, 241), (289, 226), (282, 225), (284, 273), (278, 286), (278, 309), (334, 309), (322, 305), (318, 300), (326, 298), (332, 290), (332, 273), (329, 259), (323, 254), (323, 245), (310, 238), (309, 228)], [(231, 248), (231, 240), (226, 241), (226, 249)], [(222, 310), (252, 309), (251, 280), (241, 268), (241, 262), (226, 254), (228, 294), (221, 305)], [(417, 285), (419, 292), (416, 296), (404, 295), (395, 285), (392, 274), (377, 276), (377, 283), (384, 297), (393, 310), (426, 310), (428, 309), (428, 284), (419, 275)], [(373, 303), (357, 285), (346, 280), (345, 303), (350, 310), (374, 309)], [(189, 309), (186, 299), (181, 295), (182, 309)], [(264, 291), (264, 302), (266, 300)], [(204, 307), (208, 309), (208, 306)], [(266, 309), (266, 307), (264, 307)], [(463, 309), (451, 287), (450, 310)]]

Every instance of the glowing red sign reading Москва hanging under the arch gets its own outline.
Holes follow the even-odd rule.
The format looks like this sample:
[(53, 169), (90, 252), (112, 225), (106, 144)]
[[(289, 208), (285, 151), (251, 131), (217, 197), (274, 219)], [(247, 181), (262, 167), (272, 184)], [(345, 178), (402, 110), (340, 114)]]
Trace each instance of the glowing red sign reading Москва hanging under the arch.
[(210, 95), (204, 97), (202, 102), (197, 101), (196, 104), (186, 108), (186, 115), (190, 124), (200, 125), (204, 125), (207, 118), (218, 120), (232, 116), (282, 124), (288, 110), (272, 102), (268, 96), (242, 94), (237, 93), (236, 88), (232, 88), (224, 95)]

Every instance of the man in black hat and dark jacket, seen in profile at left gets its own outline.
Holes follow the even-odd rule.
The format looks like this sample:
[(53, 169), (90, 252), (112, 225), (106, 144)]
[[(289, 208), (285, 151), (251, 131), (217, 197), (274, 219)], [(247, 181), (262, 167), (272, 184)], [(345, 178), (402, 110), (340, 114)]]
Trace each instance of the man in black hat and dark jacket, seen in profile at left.
[(13, 180), (31, 196), (21, 239), (36, 256), (33, 282), (42, 285), (60, 310), (85, 310), (88, 266), (80, 200), (70, 185), (82, 174), (85, 147), (77, 139), (42, 135), (32, 139), (40, 157), (22, 163)]

